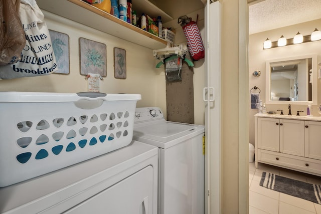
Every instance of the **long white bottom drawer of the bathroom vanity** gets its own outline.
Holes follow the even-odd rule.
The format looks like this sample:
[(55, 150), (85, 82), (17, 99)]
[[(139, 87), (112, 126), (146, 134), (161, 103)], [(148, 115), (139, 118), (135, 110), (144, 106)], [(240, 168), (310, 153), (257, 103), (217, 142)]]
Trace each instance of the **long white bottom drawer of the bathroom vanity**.
[(270, 163), (314, 175), (321, 175), (321, 161), (279, 152), (258, 149), (258, 162)]

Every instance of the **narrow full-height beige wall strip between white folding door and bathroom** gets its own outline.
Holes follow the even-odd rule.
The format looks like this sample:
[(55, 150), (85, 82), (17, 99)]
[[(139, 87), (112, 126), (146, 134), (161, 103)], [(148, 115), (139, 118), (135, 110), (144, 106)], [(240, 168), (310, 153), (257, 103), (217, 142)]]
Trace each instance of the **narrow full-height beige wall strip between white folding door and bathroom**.
[(222, 213), (248, 210), (247, 3), (222, 0)]

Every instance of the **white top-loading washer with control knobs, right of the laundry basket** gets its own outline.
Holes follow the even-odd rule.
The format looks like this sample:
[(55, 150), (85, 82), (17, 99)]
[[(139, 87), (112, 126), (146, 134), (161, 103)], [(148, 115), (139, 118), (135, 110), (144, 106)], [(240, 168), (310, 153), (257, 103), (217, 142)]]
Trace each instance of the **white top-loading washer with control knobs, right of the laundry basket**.
[(158, 213), (205, 213), (204, 126), (166, 121), (160, 108), (136, 108), (133, 139), (157, 146)]

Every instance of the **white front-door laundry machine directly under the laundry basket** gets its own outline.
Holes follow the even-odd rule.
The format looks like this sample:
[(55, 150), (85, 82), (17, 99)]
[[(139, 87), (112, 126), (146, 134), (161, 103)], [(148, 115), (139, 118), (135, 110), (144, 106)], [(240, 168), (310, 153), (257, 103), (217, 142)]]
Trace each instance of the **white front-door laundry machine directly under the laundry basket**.
[(158, 148), (128, 146), (0, 188), (0, 213), (157, 213)]

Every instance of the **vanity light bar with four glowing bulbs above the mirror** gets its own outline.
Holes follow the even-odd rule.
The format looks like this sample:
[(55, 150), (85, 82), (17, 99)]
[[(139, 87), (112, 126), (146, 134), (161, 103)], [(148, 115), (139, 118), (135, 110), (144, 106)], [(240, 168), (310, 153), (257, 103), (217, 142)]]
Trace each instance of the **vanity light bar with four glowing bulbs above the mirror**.
[(266, 39), (263, 43), (263, 49), (277, 48), (282, 46), (313, 42), (321, 40), (321, 31), (315, 30), (311, 35), (303, 36), (299, 32), (294, 36), (294, 38), (286, 39), (283, 35), (278, 39), (278, 41), (271, 42), (269, 39)]

